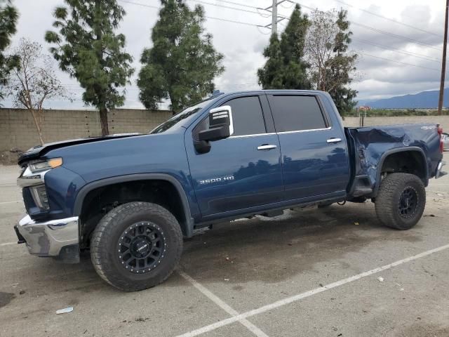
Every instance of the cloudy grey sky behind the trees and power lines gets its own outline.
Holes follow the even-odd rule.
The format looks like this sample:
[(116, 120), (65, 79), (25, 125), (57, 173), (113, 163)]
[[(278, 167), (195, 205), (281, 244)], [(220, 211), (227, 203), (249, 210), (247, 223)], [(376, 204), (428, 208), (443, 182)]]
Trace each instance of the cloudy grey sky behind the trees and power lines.
[[(139, 4), (159, 7), (160, 1), (118, 1), (127, 13), (118, 32), (126, 35), (126, 51), (133, 55), (135, 67), (131, 84), (126, 87), (126, 103), (123, 107), (142, 109), (136, 86), (140, 55), (144, 48), (152, 46), (150, 34), (159, 11)], [(321, 11), (347, 9), (350, 29), (354, 33), (351, 49), (359, 55), (356, 79), (351, 88), (358, 91), (361, 103), (364, 100), (439, 88), (445, 8), (443, 0), (295, 2), (302, 5), (303, 13), (310, 13), (310, 8)], [(21, 37), (27, 37), (42, 44), (43, 50), (47, 52), (49, 45), (43, 36), (46, 30), (52, 28), (53, 9), (62, 5), (63, 1), (14, 0), (13, 3), (18, 8), (20, 18), (12, 46), (16, 46)], [(225, 55), (225, 72), (215, 79), (216, 88), (224, 92), (260, 88), (256, 73), (257, 68), (264, 64), (262, 51), (268, 44), (270, 30), (256, 26), (271, 23), (271, 14), (255, 8), (266, 8), (272, 4), (272, 0), (187, 0), (187, 4), (191, 7), (201, 4), (204, 7), (208, 17), (206, 31), (213, 35), (215, 49)], [(293, 7), (293, 4), (285, 1), (278, 6), (278, 14), (288, 17)], [(284, 29), (285, 24), (286, 20), (279, 22), (279, 31)], [(58, 68), (56, 63), (55, 68)], [(81, 100), (82, 89), (76, 79), (70, 79), (60, 70), (57, 70), (57, 75), (74, 101), (52, 100), (45, 107), (89, 108)], [(8, 107), (12, 103), (7, 99), (3, 104)]]

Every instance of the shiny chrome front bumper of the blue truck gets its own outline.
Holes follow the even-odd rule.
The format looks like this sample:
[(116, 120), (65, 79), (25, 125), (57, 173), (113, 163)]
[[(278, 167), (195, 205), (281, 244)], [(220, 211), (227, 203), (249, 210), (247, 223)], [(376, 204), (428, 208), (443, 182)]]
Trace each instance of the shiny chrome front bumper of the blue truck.
[(25, 240), (30, 254), (76, 263), (79, 262), (78, 221), (79, 218), (74, 216), (36, 223), (29, 216), (25, 216), (15, 229), (19, 242)]

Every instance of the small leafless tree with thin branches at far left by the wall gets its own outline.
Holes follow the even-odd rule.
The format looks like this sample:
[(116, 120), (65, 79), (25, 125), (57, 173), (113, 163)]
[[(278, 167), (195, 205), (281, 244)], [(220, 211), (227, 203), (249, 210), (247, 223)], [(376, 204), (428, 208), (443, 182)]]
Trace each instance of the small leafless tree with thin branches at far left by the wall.
[(8, 94), (13, 96), (15, 107), (25, 108), (31, 112), (39, 140), (43, 145), (43, 103), (51, 98), (68, 100), (71, 98), (55, 76), (51, 56), (42, 53), (42, 46), (39, 43), (22, 38), (13, 54), (18, 55), (20, 62), (9, 79)]

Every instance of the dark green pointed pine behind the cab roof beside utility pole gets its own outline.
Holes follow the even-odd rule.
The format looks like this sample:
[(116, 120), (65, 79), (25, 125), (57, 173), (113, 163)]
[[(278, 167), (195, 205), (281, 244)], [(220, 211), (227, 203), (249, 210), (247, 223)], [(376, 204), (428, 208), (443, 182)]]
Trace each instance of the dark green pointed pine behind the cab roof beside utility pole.
[(309, 20), (302, 15), (300, 5), (296, 5), (281, 41), (272, 35), (264, 49), (267, 58), (264, 67), (257, 70), (259, 84), (264, 89), (309, 89), (307, 78), (309, 65), (304, 61), (304, 39)]

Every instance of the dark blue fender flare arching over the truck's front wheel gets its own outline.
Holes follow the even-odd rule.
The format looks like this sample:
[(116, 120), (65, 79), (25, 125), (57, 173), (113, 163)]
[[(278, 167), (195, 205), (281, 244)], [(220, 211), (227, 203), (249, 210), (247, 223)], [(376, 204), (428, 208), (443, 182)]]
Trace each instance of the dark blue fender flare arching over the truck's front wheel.
[(126, 176), (116, 176), (95, 180), (92, 183), (88, 183), (87, 185), (81, 187), (81, 190), (79, 190), (78, 194), (76, 194), (74, 204), (74, 216), (81, 216), (83, 201), (89, 192), (97, 189), (98, 187), (104, 187), (107, 185), (113, 185), (117, 183), (126, 183), (129, 181), (136, 181), (136, 180), (166, 180), (168, 181), (168, 183), (171, 183), (175, 187), (178, 194), (180, 195), (182, 201), (182, 209), (184, 211), (186, 219), (185, 223), (181, 224), (182, 230), (184, 232), (185, 237), (192, 237), (194, 229), (194, 219), (192, 218), (192, 215), (190, 213), (189, 199), (187, 199), (185, 190), (182, 188), (182, 185), (179, 182), (179, 180), (166, 173), (136, 173), (136, 174), (129, 174)]

